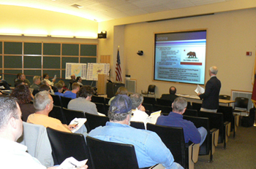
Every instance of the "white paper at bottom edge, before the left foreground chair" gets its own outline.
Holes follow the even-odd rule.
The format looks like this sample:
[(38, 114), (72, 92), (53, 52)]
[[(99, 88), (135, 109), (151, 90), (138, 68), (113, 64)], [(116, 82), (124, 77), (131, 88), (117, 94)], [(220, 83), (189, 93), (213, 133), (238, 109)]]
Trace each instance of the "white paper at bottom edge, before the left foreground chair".
[(86, 165), (87, 161), (88, 159), (79, 162), (78, 160), (75, 160), (74, 157), (68, 157), (66, 160), (64, 160), (64, 162), (61, 163), (61, 165), (59, 165), (57, 169), (80, 168), (83, 167), (83, 165)]

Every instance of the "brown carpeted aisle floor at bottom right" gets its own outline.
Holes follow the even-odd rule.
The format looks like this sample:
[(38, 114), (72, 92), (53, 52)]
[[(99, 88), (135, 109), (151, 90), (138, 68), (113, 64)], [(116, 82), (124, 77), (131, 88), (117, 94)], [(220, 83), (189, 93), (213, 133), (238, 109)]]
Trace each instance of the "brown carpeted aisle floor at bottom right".
[(212, 163), (208, 163), (208, 155), (199, 156), (195, 169), (255, 169), (256, 127), (238, 127), (236, 138), (230, 133), (227, 149), (222, 148), (223, 144), (218, 144)]

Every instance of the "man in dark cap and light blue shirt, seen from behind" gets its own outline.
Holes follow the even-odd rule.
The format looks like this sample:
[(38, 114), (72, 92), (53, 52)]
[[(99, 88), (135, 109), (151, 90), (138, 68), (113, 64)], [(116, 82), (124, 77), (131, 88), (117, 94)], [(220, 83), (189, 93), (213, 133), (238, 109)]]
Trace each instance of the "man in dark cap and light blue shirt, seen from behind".
[(132, 144), (139, 168), (146, 168), (158, 163), (165, 168), (182, 168), (174, 162), (173, 154), (162, 143), (161, 138), (151, 131), (140, 130), (129, 126), (132, 114), (132, 101), (127, 95), (116, 95), (111, 101), (107, 122), (91, 130), (89, 136), (102, 141), (110, 141), (121, 144)]

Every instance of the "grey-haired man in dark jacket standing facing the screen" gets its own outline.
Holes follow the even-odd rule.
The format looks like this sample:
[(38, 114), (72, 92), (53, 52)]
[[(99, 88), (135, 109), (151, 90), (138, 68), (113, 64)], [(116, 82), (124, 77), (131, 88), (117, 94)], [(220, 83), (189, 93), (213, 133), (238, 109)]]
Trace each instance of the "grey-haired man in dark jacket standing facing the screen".
[(211, 66), (209, 75), (211, 78), (206, 83), (206, 90), (203, 94), (198, 94), (200, 99), (203, 99), (200, 111), (217, 112), (219, 108), (219, 90), (222, 87), (221, 82), (217, 79), (218, 68)]

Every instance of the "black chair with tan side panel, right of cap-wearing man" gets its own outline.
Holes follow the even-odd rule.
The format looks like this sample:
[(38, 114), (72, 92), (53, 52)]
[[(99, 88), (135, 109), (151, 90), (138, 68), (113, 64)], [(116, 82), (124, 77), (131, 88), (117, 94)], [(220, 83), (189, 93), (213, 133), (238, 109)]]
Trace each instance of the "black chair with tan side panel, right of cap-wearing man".
[[(154, 131), (162, 142), (170, 149), (175, 162), (183, 168), (193, 169), (198, 160), (199, 144), (185, 144), (182, 127), (167, 127), (147, 123), (147, 130)], [(193, 154), (192, 154), (193, 153)]]

